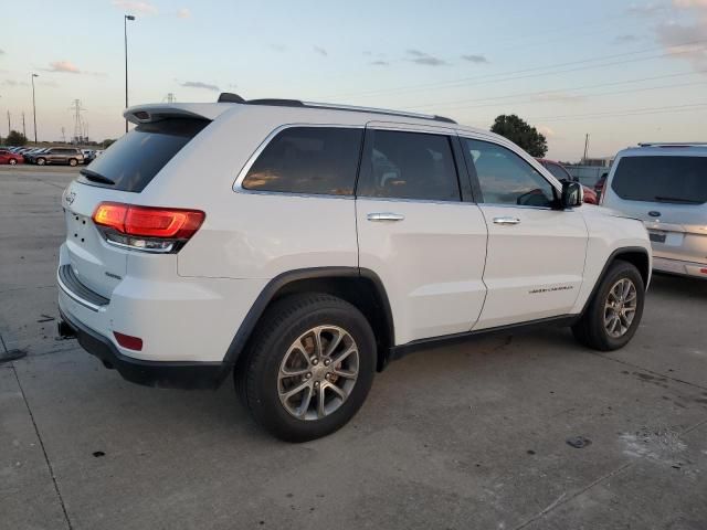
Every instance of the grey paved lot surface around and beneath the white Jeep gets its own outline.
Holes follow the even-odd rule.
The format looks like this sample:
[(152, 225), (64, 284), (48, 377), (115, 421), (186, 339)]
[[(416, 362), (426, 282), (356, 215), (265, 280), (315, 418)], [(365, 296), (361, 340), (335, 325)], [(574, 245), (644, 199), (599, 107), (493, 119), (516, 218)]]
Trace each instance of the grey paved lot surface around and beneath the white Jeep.
[(0, 348), (27, 352), (0, 364), (1, 529), (707, 529), (707, 282), (656, 276), (609, 354), (557, 328), (411, 354), (288, 445), (230, 381), (141, 388), (55, 338), (74, 174), (0, 168)]

